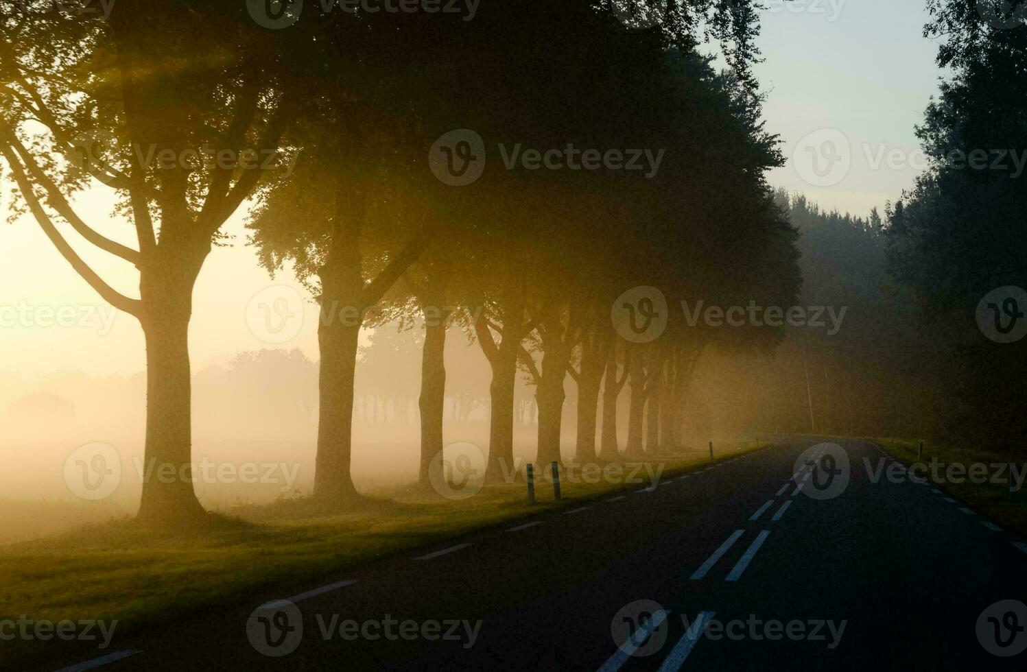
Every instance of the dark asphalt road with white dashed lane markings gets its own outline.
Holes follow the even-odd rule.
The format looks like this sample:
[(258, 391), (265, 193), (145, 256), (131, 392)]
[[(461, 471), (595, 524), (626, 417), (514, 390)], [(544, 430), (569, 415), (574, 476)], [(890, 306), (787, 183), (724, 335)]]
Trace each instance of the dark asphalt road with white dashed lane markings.
[(325, 577), (292, 596), (255, 595), (241, 608), (69, 663), (112, 671), (1027, 668), (1027, 653), (1009, 656), (1027, 647), (1027, 614), (1001, 602), (1027, 601), (1024, 540), (898, 467), (892, 478), (875, 478), (890, 459), (874, 444), (821, 440), (778, 438), (652, 490)]

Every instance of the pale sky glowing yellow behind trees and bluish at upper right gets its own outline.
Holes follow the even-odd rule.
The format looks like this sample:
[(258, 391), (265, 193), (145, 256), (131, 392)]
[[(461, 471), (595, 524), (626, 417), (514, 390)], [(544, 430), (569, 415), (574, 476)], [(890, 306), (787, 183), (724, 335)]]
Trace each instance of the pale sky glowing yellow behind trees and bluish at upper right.
[[(770, 183), (857, 214), (893, 201), (922, 167), (914, 125), (938, 88), (922, 0), (763, 3), (765, 62), (756, 73), (767, 93), (767, 128), (781, 135), (788, 159)], [(4, 218), (10, 189), (0, 184)], [(111, 216), (105, 189), (82, 195), (77, 209), (105, 235), (132, 244), (132, 229)], [(243, 221), (240, 209), (227, 223), (231, 245), (214, 250), (196, 284), (194, 370), (260, 348), (299, 348), (317, 358), (316, 306), (288, 270), (272, 279), (257, 266)], [(76, 247), (112, 285), (138, 295), (131, 266)], [(0, 371), (36, 378), (144, 368), (135, 318), (105, 306), (31, 218), (0, 224)]]

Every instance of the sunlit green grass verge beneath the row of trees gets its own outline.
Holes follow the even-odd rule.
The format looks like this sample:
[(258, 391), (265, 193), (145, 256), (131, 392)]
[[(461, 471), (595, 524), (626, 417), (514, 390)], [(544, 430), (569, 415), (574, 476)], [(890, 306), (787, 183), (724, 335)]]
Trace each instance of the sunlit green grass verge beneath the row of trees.
[[(729, 445), (733, 449), (714, 461), (705, 450), (661, 459), (661, 478), (756, 447), (752, 441)], [(116, 619), (113, 649), (132, 633), (207, 608), (294, 594), (375, 558), (649, 484), (644, 469), (638, 477), (642, 483), (626, 485), (565, 480), (561, 502), (553, 501), (551, 484), (539, 480), (534, 506), (525, 484), (516, 482), (461, 501), (394, 488), (374, 493), (358, 511), (333, 516), (319, 516), (309, 500), (250, 507), (192, 533), (146, 530), (124, 519), (93, 524), (0, 547), (0, 620)], [(74, 655), (75, 643), (0, 645), (0, 665), (15, 665)]]

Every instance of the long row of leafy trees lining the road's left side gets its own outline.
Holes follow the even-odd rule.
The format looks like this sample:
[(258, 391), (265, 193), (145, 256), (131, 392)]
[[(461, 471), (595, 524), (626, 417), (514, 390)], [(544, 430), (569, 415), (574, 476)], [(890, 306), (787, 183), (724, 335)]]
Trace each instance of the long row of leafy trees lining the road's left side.
[[(347, 319), (353, 312), (433, 318), (421, 362), (422, 477), (442, 449), (442, 353), (454, 321), (492, 369), (487, 478), (512, 465), (519, 367), (535, 383), (538, 461), (561, 459), (568, 375), (579, 390), (575, 458), (612, 460), (619, 451), (607, 428), (625, 385), (627, 449), (673, 449), (701, 349), (779, 338), (690, 328), (674, 309), (682, 298), (787, 306), (798, 288), (795, 232), (764, 180), (782, 158), (759, 122), (749, 2), (670, 2), (642, 26), (625, 22), (626, 3), (616, 1), (559, 10), (490, 3), (473, 21), (315, 3), (282, 30), (241, 4), (158, 0), (119, 3), (107, 21), (0, 18), (0, 156), (21, 199), (14, 215), (31, 213), (86, 282), (139, 318), (147, 460), (190, 462), (193, 285), (243, 203), (260, 263), (272, 273), (288, 265), (320, 305), (315, 497), (326, 509), (357, 497), (353, 381), (369, 324)], [(711, 38), (728, 64), (722, 72), (698, 50)], [(473, 129), (489, 157), (463, 187), (429, 165), (429, 149), (454, 128)], [(663, 158), (645, 175), (496, 160), (519, 144)], [(183, 160), (201, 147), (219, 160)], [(248, 152), (292, 167), (248, 167)], [(76, 211), (73, 195), (101, 185), (135, 225), (135, 241), (102, 234)], [(72, 233), (135, 266), (139, 297), (105, 282)], [(610, 323), (614, 299), (638, 285), (659, 287), (672, 307), (665, 333), (644, 345), (618, 341)], [(604, 379), (604, 419), (613, 416), (597, 453)], [(147, 522), (202, 513), (187, 480), (144, 485)]]

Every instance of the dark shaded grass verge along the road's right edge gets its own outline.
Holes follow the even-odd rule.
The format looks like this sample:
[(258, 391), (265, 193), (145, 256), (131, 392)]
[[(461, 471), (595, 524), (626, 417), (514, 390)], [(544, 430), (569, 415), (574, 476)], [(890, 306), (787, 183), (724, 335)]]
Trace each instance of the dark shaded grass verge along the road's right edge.
[[(923, 454), (918, 460), (916, 451), (919, 441), (881, 437), (868, 437), (867, 440), (877, 443), (890, 452), (896, 460), (899, 460), (907, 466), (918, 462), (922, 463), (926, 466), (928, 471), (924, 473), (921, 468), (917, 470), (916, 475), (926, 475), (928, 479), (930, 478), (929, 469), (931, 458), (936, 458), (939, 463), (945, 466), (950, 464), (960, 464), (967, 468), (969, 465), (976, 463), (982, 463), (985, 465), (990, 465), (992, 463), (1002, 463), (1006, 465), (1011, 462), (1017, 463), (1016, 458), (1007, 453), (1003, 454), (991, 452), (978, 448), (933, 445), (927, 442), (924, 442)], [(1020, 462), (1019, 464), (1024, 465), (1023, 462)], [(939, 468), (939, 473), (943, 476), (943, 478), (942, 482), (936, 483), (937, 487), (950, 492), (953, 497), (958, 498), (959, 500), (962, 500), (974, 510), (994, 520), (999, 524), (999, 526), (1014, 529), (1021, 535), (1027, 535), (1027, 487), (1016, 492), (1011, 491), (1011, 474), (1007, 468), (1005, 469), (1003, 482), (1001, 483), (990, 482), (990, 479), (994, 474), (994, 471), (991, 468), (988, 469), (987, 475), (989, 482), (986, 483), (972, 483), (968, 479), (964, 480), (962, 483), (953, 482), (952, 480), (944, 477), (945, 470), (942, 467)], [(965, 473), (963, 474), (963, 477), (965, 478)]]

